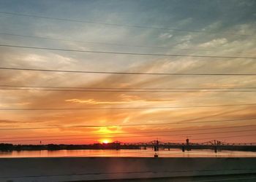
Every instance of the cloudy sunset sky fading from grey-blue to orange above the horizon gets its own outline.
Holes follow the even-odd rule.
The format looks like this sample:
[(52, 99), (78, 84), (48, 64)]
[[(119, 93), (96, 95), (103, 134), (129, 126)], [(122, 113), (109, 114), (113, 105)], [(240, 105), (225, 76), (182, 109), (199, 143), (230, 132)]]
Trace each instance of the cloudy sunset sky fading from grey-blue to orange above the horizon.
[[(1, 0), (0, 67), (255, 74), (255, 9), (253, 0)], [(216, 58), (218, 56), (229, 58)], [(184, 142), (186, 138), (192, 142), (216, 139), (253, 143), (256, 139), (256, 104), (253, 105), (256, 103), (256, 79), (253, 75), (85, 74), (0, 69), (0, 84), (0, 143), (157, 139)], [(50, 89), (45, 90), (45, 87)], [(101, 92), (75, 91), (83, 88)], [(110, 88), (122, 92), (102, 92), (113, 90)], [(147, 92), (131, 92), (138, 90)], [(157, 92), (148, 92), (150, 90)], [(31, 108), (72, 109), (23, 110)], [(131, 124), (146, 125), (124, 126)]]

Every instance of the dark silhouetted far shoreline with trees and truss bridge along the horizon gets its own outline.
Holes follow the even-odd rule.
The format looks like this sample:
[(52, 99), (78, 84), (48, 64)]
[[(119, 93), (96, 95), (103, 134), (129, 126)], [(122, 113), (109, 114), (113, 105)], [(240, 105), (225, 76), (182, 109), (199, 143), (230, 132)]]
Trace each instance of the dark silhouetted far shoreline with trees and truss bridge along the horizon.
[(181, 149), (181, 151), (190, 151), (193, 149), (211, 149), (215, 152), (222, 150), (229, 151), (256, 151), (256, 143), (226, 143), (223, 141), (212, 140), (202, 143), (192, 143), (187, 138), (184, 143), (173, 143), (168, 141), (148, 141), (137, 143), (124, 143), (114, 141), (113, 143), (94, 143), (83, 145), (71, 144), (46, 144), (46, 145), (13, 145), (11, 143), (0, 143), (0, 151), (20, 151), (20, 150), (72, 150), (72, 149), (154, 149), (170, 150)]

